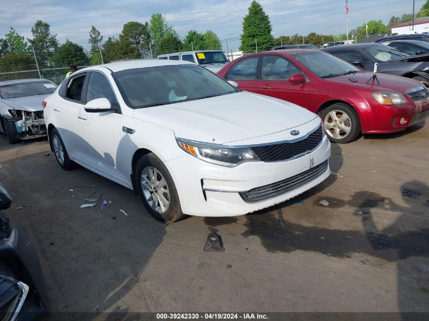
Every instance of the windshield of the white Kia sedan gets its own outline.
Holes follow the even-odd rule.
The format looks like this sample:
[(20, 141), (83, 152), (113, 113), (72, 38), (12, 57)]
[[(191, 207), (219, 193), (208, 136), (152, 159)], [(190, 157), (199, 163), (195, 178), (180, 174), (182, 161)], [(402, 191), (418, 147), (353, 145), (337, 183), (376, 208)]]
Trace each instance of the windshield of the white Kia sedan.
[(127, 69), (114, 73), (131, 108), (146, 108), (236, 93), (239, 90), (194, 64)]

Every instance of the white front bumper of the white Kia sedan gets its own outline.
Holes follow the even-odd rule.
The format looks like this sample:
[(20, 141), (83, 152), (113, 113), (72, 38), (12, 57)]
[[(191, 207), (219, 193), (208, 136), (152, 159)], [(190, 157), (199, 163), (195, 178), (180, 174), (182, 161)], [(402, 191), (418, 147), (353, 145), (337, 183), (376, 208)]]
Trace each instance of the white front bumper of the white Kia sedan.
[(248, 202), (240, 193), (289, 179), (325, 162), (331, 144), (324, 137), (310, 154), (282, 162), (246, 162), (236, 167), (207, 163), (191, 155), (166, 162), (179, 194), (182, 211), (193, 216), (237, 216), (281, 203), (302, 194), (329, 176), (329, 166), (311, 181), (281, 195)]

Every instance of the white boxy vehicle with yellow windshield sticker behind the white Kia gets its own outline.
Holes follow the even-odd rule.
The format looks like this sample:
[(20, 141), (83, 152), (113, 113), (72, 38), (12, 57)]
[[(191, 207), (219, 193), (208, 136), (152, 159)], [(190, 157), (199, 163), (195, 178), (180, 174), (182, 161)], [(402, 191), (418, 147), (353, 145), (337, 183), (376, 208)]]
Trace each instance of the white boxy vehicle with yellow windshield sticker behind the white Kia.
[(159, 55), (157, 58), (193, 62), (206, 67), (215, 74), (229, 62), (221, 50), (194, 50), (175, 52), (171, 54)]

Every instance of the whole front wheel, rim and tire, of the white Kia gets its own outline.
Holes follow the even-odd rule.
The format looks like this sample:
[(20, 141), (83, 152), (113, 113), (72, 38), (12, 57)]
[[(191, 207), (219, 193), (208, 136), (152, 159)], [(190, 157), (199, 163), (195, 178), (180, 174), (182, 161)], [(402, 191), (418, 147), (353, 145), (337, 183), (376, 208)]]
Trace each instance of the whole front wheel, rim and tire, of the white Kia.
[(143, 204), (157, 220), (173, 223), (184, 217), (176, 185), (155, 154), (149, 153), (137, 163), (136, 183)]

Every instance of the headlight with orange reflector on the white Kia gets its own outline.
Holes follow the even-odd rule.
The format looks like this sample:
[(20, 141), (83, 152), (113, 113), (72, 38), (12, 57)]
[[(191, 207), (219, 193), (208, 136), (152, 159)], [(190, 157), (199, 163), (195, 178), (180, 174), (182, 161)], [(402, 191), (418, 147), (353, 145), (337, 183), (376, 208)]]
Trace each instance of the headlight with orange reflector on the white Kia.
[(177, 144), (186, 153), (209, 163), (234, 167), (244, 162), (258, 161), (259, 157), (248, 147), (209, 145), (186, 139), (177, 139)]

